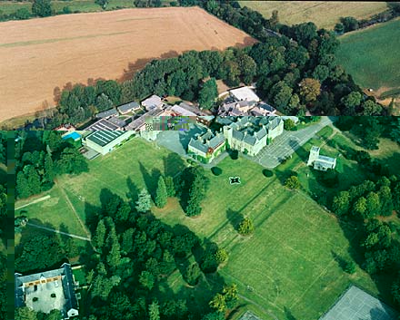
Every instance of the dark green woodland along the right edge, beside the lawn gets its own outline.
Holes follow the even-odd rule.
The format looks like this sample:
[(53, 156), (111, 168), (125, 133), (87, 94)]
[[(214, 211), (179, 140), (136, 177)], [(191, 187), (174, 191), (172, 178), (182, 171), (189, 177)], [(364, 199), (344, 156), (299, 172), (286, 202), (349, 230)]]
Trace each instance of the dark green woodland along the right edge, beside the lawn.
[[(341, 117), (336, 126), (353, 132), (367, 150), (377, 149), (382, 137), (399, 142), (397, 118)], [(355, 261), (376, 281), (385, 277), (392, 284), (393, 304), (400, 306), (400, 228), (393, 222), (385, 222), (385, 217), (400, 212), (400, 175), (390, 175), (387, 167), (364, 150), (347, 147), (342, 153), (345, 158), (357, 161), (368, 173), (368, 179), (341, 190), (327, 205), (343, 223), (362, 230), (364, 236), (354, 248)], [(325, 201), (322, 204), (326, 205)], [(345, 262), (345, 268), (354, 272), (349, 262)]]

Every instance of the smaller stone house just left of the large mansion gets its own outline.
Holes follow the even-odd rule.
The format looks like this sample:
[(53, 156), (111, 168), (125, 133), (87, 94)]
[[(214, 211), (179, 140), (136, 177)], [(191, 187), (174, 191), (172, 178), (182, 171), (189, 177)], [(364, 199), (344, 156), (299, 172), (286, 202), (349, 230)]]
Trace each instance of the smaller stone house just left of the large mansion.
[(187, 154), (203, 163), (209, 163), (225, 150), (225, 137), (222, 132), (211, 130), (192, 138), (187, 147)]

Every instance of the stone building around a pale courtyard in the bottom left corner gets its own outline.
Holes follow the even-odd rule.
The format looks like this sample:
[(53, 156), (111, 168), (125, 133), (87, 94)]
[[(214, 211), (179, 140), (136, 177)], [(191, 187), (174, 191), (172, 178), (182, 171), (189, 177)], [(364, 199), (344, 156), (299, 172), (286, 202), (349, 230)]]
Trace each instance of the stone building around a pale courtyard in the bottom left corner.
[(23, 276), (15, 273), (15, 307), (27, 306), (36, 312), (60, 310), (64, 319), (79, 314), (71, 266)]

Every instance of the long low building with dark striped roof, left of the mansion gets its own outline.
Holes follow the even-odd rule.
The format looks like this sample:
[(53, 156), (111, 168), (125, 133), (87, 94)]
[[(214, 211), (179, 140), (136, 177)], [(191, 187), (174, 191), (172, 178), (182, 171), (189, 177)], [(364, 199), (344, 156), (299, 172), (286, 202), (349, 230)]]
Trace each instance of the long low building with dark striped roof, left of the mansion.
[(87, 148), (105, 155), (134, 134), (135, 131), (94, 131), (87, 135), (82, 142)]

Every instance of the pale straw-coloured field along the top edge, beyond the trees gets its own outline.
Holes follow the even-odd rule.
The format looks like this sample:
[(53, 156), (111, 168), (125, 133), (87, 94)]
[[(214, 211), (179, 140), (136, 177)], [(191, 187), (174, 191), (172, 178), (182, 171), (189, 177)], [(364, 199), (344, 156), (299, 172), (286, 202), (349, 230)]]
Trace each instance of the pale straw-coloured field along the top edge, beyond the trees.
[(337, 1), (239, 1), (266, 18), (278, 10), (279, 21), (283, 24), (314, 22), (321, 28), (333, 29), (341, 16), (364, 19), (385, 11), (385, 2), (337, 2)]

